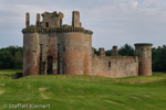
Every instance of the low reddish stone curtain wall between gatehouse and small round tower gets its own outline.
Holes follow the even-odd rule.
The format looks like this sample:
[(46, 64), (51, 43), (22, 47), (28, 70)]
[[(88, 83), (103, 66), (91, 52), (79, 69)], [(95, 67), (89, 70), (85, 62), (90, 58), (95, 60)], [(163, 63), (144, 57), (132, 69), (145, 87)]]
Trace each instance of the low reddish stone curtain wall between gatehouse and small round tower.
[(138, 76), (138, 58), (129, 56), (93, 55), (92, 75), (112, 78)]

